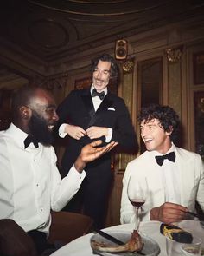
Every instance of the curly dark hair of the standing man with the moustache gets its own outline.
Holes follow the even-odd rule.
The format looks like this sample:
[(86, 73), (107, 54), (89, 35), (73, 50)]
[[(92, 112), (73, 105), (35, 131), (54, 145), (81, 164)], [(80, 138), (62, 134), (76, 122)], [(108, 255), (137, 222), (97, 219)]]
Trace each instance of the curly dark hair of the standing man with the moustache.
[(110, 62), (111, 63), (111, 78), (118, 78), (118, 76), (119, 76), (118, 63), (111, 55), (106, 54), (106, 53), (96, 56), (95, 58), (92, 59), (92, 66), (91, 66), (92, 72), (96, 69), (99, 61)]

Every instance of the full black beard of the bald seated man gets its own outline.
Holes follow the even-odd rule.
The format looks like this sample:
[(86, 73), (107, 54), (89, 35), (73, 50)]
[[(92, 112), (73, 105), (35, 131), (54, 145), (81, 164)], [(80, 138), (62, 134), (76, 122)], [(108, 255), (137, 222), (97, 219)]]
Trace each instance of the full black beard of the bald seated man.
[(29, 120), (30, 134), (36, 141), (41, 142), (44, 146), (50, 146), (54, 142), (53, 135), (48, 129), (47, 121), (35, 110), (32, 110), (33, 114)]

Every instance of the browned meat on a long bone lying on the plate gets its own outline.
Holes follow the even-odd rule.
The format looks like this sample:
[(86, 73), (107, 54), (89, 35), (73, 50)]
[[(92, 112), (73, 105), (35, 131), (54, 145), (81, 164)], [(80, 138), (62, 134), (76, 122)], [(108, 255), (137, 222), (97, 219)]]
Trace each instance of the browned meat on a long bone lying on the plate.
[(122, 246), (111, 246), (105, 242), (91, 241), (92, 249), (106, 253), (139, 252), (143, 249), (143, 240), (137, 230), (131, 233), (131, 239)]

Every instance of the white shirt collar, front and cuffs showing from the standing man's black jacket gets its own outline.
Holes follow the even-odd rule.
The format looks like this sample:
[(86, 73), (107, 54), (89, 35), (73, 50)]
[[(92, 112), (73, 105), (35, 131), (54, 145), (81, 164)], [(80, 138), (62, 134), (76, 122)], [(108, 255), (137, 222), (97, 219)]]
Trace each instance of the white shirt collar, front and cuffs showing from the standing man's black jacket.
[[(91, 87), (91, 95), (92, 95), (92, 90), (94, 89), (94, 86), (92, 85)], [(105, 88), (103, 90), (105, 92), (105, 95), (107, 95), (107, 88)], [(95, 96), (95, 97), (92, 97), (92, 104), (93, 104), (93, 107), (95, 109), (95, 112), (97, 111), (97, 109), (99, 108), (99, 105), (101, 104), (101, 102), (103, 102), (103, 100), (101, 100), (99, 98), (99, 96)], [(66, 125), (67, 123), (62, 123), (60, 128), (59, 128), (59, 136), (61, 138), (64, 138), (67, 133), (65, 133), (65, 128), (66, 128)], [(110, 142), (112, 140), (112, 128), (108, 128), (108, 135), (105, 136), (105, 142)]]

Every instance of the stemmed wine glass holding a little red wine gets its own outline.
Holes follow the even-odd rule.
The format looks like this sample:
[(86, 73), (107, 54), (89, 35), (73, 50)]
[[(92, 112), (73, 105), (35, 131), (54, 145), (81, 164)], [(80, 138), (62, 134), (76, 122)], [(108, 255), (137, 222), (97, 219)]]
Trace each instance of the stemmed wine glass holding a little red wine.
[(131, 175), (128, 181), (127, 194), (132, 206), (135, 207), (136, 230), (138, 231), (139, 209), (140, 207), (143, 206), (148, 194), (148, 185), (146, 177), (137, 177), (136, 175)]

